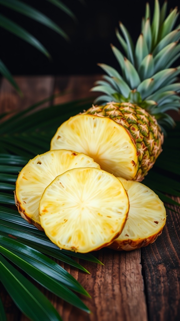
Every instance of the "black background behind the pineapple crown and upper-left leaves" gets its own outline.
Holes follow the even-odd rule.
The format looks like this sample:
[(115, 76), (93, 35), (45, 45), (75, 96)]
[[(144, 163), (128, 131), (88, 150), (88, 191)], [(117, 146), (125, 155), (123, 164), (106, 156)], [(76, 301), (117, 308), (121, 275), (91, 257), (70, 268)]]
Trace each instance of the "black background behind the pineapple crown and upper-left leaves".
[[(134, 42), (140, 33), (141, 18), (145, 12), (145, 0), (62, 0), (78, 19), (63, 13), (45, 0), (24, 0), (56, 22), (70, 37), (66, 42), (61, 36), (34, 20), (0, 6), (2, 14), (32, 33), (49, 51), (53, 60), (23, 40), (0, 27), (0, 58), (14, 75), (69, 75), (100, 74), (97, 63), (106, 63), (118, 68), (110, 43), (120, 48), (115, 28), (122, 21)], [(150, 0), (151, 12), (154, 1)], [(160, 5), (164, 1), (160, 1)], [(170, 8), (179, 5), (179, 0), (168, 1)], [(179, 22), (179, 20), (178, 20)]]

